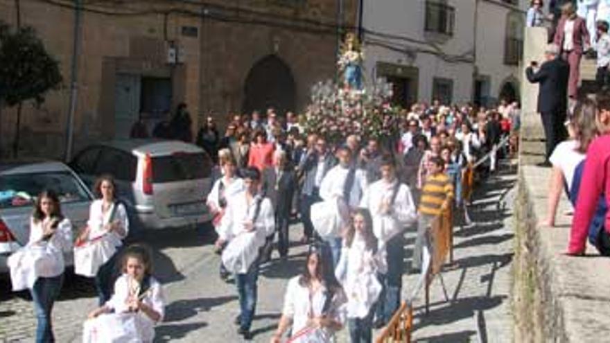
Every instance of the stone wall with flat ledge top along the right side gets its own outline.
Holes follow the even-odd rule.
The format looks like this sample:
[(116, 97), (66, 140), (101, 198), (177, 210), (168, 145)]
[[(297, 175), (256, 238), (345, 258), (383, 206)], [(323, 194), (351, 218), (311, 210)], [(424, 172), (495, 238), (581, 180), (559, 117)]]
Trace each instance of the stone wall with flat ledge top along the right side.
[[(546, 218), (550, 168), (542, 146), (526, 146), (519, 161), (513, 306), (515, 342), (605, 342), (610, 329), (610, 259), (587, 244), (584, 257), (566, 256), (572, 211), (562, 195), (555, 227)], [(534, 152), (534, 153), (532, 153)]]

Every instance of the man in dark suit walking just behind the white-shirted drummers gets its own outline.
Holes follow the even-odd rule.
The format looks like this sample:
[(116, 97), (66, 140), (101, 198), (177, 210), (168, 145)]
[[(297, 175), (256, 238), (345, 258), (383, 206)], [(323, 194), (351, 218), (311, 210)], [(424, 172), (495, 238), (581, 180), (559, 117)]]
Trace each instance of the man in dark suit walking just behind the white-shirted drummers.
[[(293, 204), (293, 194), (297, 188), (295, 170), (288, 161), (288, 155), (284, 150), (276, 150), (274, 154), (274, 166), (263, 170), (263, 194), (269, 197), (275, 209), (275, 231), (277, 232), (277, 251), (281, 258), (288, 257), (288, 220)], [(274, 235), (275, 236), (275, 235)], [(273, 236), (265, 245), (263, 261), (271, 258)], [(266, 260), (265, 260), (266, 258)]]

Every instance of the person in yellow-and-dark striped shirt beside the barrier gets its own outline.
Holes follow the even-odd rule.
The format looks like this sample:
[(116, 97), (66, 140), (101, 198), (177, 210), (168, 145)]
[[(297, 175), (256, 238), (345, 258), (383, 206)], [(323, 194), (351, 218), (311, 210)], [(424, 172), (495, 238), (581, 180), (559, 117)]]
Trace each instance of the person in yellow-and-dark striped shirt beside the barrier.
[(421, 249), (428, 227), (434, 218), (451, 206), (453, 201), (453, 183), (451, 178), (444, 173), (445, 162), (441, 157), (432, 157), (429, 163), (432, 173), (428, 175), (424, 187), (421, 188), (421, 200), (419, 201), (417, 238), (412, 263), (412, 267), (416, 270), (421, 269)]

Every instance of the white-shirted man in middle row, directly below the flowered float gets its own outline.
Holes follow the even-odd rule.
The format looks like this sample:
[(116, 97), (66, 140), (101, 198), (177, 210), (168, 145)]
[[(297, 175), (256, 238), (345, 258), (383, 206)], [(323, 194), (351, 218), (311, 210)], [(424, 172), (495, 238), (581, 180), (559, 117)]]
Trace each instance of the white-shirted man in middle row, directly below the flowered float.
[[(349, 225), (349, 213), (360, 204), (360, 197), (368, 187), (367, 176), (364, 170), (357, 169), (351, 163), (351, 150), (342, 146), (337, 150), (339, 165), (335, 166), (322, 179), (320, 184), (320, 197), (326, 204), (336, 202), (340, 213), (340, 220), (335, 227), (324, 228), (318, 234), (328, 244), (333, 256), (333, 266), (339, 262), (341, 254), (341, 234), (346, 225)], [(337, 208), (331, 206), (329, 208)], [(313, 210), (312, 210), (313, 211)]]

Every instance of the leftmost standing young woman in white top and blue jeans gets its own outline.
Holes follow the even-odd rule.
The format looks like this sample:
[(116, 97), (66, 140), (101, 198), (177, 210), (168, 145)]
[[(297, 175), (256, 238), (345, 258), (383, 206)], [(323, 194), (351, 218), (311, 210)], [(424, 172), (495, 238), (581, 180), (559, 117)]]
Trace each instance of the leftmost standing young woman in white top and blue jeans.
[(54, 342), (51, 310), (64, 280), (64, 252), (72, 248), (72, 225), (62, 216), (53, 191), (38, 195), (30, 220), (30, 240), (9, 258), (13, 289), (28, 288), (38, 321), (36, 342)]

